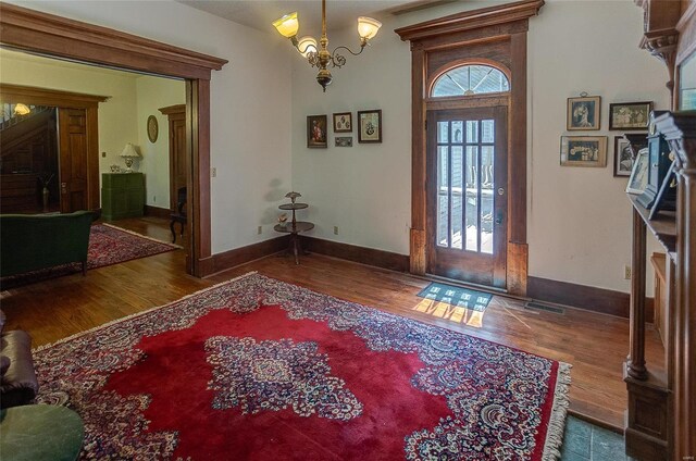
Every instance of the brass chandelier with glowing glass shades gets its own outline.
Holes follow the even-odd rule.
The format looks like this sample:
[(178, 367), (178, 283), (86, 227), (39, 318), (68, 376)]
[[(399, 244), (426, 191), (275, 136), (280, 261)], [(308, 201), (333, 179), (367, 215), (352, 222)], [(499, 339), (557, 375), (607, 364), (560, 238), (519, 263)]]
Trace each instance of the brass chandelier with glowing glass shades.
[(373, 20), (372, 17), (358, 17), (358, 35), (360, 35), (360, 51), (352, 52), (347, 47), (337, 47), (334, 51), (328, 52), (328, 37), (326, 37), (326, 0), (322, 0), (322, 36), (319, 39), (321, 49), (316, 48), (316, 39), (314, 37), (304, 36), (297, 38), (297, 32), (300, 28), (299, 20), (297, 18), (297, 12), (286, 14), (279, 20), (273, 22), (273, 25), (278, 33), (286, 38), (289, 38), (293, 46), (307, 58), (307, 61), (312, 67), (318, 67), (316, 82), (322, 86), (324, 92), (326, 92), (326, 85), (331, 84), (333, 77), (331, 71), (326, 68), (328, 64), (332, 67), (343, 67), (346, 64), (346, 58), (339, 54), (337, 51), (344, 49), (350, 54), (357, 57), (364, 50), (368, 41), (377, 35), (382, 23)]

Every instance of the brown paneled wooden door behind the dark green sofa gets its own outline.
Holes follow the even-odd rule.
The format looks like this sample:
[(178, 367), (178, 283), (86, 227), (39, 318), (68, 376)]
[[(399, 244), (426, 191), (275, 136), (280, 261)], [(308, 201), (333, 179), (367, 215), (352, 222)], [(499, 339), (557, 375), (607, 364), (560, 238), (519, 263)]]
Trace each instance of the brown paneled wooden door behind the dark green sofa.
[(58, 110), (61, 213), (87, 210), (87, 113)]

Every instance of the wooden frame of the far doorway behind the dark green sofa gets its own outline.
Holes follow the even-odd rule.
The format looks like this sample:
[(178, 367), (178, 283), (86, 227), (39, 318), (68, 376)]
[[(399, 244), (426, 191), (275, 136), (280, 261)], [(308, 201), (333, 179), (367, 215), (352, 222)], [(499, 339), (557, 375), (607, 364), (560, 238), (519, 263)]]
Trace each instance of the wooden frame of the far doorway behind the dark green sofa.
[[(99, 137), (98, 112), (99, 103), (109, 99), (108, 96), (84, 95), (79, 92), (58, 91), (52, 89), (34, 88), (21, 85), (0, 84), (0, 99), (16, 101), (25, 104), (50, 105), (61, 109), (78, 109), (85, 111), (86, 136), (86, 208), (99, 208)], [(59, 137), (64, 134), (59, 133)], [(63, 200), (63, 198), (61, 198)], [(61, 205), (63, 208), (63, 205)]]

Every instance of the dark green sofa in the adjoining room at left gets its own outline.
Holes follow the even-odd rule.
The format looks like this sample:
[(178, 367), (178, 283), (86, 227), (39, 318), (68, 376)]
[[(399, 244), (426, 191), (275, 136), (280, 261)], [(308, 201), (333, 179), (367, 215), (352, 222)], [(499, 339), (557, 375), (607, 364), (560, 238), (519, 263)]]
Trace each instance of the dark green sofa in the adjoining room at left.
[(94, 213), (0, 214), (0, 276), (71, 262), (87, 270)]

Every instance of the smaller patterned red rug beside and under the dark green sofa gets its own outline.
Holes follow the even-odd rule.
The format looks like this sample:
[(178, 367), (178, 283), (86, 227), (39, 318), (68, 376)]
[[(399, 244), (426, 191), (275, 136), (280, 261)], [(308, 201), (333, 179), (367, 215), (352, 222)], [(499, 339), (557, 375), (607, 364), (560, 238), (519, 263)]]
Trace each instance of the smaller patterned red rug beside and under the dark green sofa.
[[(87, 269), (103, 267), (139, 258), (147, 258), (166, 251), (176, 250), (175, 245), (166, 244), (130, 230), (109, 224), (95, 224), (89, 234)], [(11, 289), (22, 285), (61, 277), (82, 271), (78, 262), (57, 265), (50, 269), (32, 271), (25, 274), (0, 278), (1, 289)]]

